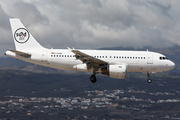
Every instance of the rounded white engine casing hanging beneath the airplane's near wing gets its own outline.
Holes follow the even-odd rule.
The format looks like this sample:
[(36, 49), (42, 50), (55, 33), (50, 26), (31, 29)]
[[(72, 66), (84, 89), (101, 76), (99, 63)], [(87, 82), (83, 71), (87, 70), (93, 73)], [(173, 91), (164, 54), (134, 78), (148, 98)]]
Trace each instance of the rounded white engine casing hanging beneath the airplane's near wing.
[(109, 77), (124, 79), (126, 77), (127, 65), (109, 65)]

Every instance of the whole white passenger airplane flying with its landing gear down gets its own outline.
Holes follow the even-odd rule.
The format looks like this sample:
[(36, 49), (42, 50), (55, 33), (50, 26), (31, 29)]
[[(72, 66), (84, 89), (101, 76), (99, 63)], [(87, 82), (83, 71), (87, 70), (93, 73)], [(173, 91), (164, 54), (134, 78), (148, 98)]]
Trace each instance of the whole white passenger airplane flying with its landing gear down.
[(150, 51), (47, 49), (42, 47), (23, 25), (20, 19), (9, 19), (15, 50), (9, 49), (6, 56), (26, 62), (63, 70), (92, 72), (90, 80), (97, 81), (102, 73), (115, 79), (125, 79), (127, 72), (150, 73), (172, 70), (175, 64), (166, 56)]

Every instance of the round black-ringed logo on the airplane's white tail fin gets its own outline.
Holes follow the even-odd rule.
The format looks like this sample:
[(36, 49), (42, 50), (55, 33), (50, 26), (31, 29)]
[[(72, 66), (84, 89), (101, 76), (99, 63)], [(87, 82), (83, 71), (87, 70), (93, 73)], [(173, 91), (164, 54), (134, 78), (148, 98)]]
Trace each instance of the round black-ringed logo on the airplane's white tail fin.
[(14, 33), (14, 39), (18, 43), (25, 43), (29, 40), (29, 32), (24, 28), (19, 28)]

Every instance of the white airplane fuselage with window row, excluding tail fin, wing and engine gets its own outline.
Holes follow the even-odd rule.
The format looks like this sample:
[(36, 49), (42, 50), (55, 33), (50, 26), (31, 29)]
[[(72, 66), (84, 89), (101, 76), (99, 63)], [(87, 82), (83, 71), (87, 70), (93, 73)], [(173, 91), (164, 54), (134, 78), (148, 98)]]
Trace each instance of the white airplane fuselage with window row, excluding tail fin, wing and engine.
[[(175, 64), (160, 53), (149, 51), (115, 51), (115, 50), (80, 50), (97, 59), (106, 61), (109, 65), (126, 64), (127, 72), (162, 72), (175, 67)], [(68, 49), (25, 49), (23, 52), (31, 54), (24, 58), (7, 51), (7, 56), (23, 61), (43, 65), (51, 68), (77, 70), (75, 65), (83, 64), (76, 59), (75, 54)], [(88, 70), (85, 70), (88, 72)], [(89, 71), (91, 72), (91, 71)]]

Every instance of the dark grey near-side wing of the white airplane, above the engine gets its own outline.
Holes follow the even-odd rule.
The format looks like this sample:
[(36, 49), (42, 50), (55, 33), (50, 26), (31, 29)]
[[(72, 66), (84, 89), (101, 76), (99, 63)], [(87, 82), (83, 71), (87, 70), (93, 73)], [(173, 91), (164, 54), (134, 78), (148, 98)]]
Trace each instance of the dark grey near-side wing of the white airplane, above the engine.
[(88, 54), (85, 54), (79, 50), (71, 50), (77, 59), (80, 59), (83, 63), (93, 63), (93, 64), (108, 64), (108, 62), (94, 58)]

